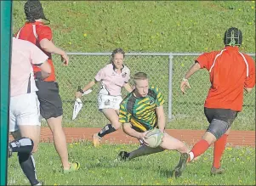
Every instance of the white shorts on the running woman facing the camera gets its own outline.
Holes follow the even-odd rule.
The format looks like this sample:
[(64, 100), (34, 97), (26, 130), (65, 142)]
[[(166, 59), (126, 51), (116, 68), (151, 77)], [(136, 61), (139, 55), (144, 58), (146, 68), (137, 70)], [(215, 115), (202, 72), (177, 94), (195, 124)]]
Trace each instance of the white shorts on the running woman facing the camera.
[(98, 95), (98, 108), (103, 109), (114, 109), (119, 110), (122, 102), (121, 96), (110, 96), (105, 94)]

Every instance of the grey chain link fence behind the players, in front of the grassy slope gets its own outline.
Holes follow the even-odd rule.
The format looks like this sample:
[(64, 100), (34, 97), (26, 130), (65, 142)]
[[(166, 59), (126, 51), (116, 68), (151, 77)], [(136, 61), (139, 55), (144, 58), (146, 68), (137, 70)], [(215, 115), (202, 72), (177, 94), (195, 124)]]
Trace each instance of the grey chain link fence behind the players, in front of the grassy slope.
[[(126, 54), (125, 65), (131, 76), (144, 71), (150, 76), (150, 84), (159, 87), (165, 99), (164, 109), (168, 117), (167, 128), (205, 129), (208, 121), (203, 114), (203, 104), (210, 87), (207, 70), (199, 70), (190, 79), (191, 89), (183, 95), (179, 84), (185, 72), (200, 54)], [(253, 54), (250, 54), (253, 56)], [(93, 92), (82, 97), (83, 107), (72, 121), (75, 93), (80, 85), (84, 87), (94, 80), (96, 73), (110, 63), (111, 54), (70, 53), (69, 66), (63, 66), (60, 57), (54, 55), (57, 82), (63, 101), (63, 125), (65, 127), (103, 127), (107, 121), (98, 110), (97, 93), (99, 83)], [(127, 94), (122, 90), (122, 97)], [(234, 123), (235, 129), (255, 130), (255, 93), (244, 96), (243, 110)]]

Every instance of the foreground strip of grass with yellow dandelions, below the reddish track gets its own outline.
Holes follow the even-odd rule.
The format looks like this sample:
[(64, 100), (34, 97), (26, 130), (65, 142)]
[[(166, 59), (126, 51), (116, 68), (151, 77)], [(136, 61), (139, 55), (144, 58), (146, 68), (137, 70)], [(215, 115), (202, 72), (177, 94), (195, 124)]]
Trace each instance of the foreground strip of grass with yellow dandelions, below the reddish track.
[[(225, 150), (222, 166), (225, 175), (211, 176), (213, 149), (187, 166), (179, 179), (169, 178), (169, 172), (179, 162), (179, 153), (164, 151), (132, 161), (115, 161), (121, 150), (133, 150), (137, 145), (104, 144), (94, 149), (90, 143), (69, 144), (71, 160), (80, 161), (79, 172), (61, 173), (60, 159), (54, 144), (40, 144), (35, 155), (37, 177), (46, 185), (255, 185), (255, 149)], [(27, 185), (16, 155), (9, 159), (9, 185)]]

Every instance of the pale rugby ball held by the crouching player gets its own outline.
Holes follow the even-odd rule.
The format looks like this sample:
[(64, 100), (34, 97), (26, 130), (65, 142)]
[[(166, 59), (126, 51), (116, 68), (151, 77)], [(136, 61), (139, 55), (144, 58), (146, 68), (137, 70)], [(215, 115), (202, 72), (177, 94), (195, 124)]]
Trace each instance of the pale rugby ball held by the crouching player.
[(145, 134), (145, 143), (151, 148), (156, 148), (162, 144), (163, 135), (159, 129), (153, 128)]

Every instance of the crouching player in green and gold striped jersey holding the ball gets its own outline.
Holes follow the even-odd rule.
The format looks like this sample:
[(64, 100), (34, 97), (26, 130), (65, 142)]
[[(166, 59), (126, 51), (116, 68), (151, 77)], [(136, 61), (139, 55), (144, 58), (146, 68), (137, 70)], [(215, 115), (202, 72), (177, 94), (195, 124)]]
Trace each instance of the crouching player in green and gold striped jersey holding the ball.
[[(139, 139), (141, 146), (129, 153), (121, 151), (118, 159), (121, 161), (131, 160), (141, 155), (150, 155), (165, 149), (188, 153), (189, 149), (184, 143), (164, 131), (166, 117), (161, 91), (157, 87), (149, 87), (149, 79), (144, 72), (138, 72), (134, 75), (134, 86), (134, 91), (128, 93), (120, 104), (119, 122), (122, 123), (125, 133)], [(153, 144), (146, 138), (147, 133), (152, 130), (153, 133), (158, 133), (156, 142)], [(155, 148), (152, 148), (152, 146)]]

